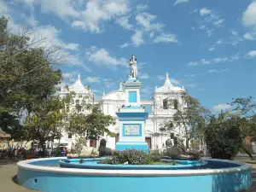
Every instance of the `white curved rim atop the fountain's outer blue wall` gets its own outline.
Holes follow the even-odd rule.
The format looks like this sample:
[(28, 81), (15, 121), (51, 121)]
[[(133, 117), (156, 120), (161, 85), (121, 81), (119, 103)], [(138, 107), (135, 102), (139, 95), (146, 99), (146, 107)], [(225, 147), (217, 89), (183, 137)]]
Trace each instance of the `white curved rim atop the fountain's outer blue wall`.
[(94, 175), (94, 176), (130, 176), (130, 177), (161, 177), (161, 176), (203, 176), (203, 175), (216, 175), (216, 174), (229, 174), (235, 172), (246, 172), (252, 168), (247, 163), (241, 163), (232, 160), (217, 160), (207, 159), (218, 162), (225, 162), (236, 164), (237, 167), (220, 168), (220, 169), (198, 169), (198, 170), (104, 170), (104, 169), (79, 169), (79, 168), (63, 168), (52, 166), (37, 166), (30, 163), (36, 161), (46, 160), (63, 160), (67, 157), (52, 157), (52, 158), (40, 158), (33, 160), (21, 160), (17, 162), (19, 169), (25, 169), (29, 171), (37, 172), (52, 172), (62, 174), (76, 174), (76, 175)]

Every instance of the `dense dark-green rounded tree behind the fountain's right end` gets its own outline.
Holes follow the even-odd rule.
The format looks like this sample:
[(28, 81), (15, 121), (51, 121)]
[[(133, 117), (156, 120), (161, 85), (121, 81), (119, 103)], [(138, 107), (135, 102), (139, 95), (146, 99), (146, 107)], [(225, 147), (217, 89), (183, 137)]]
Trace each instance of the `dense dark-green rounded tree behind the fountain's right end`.
[(205, 141), (212, 158), (234, 160), (243, 148), (243, 128), (247, 119), (233, 113), (220, 113), (218, 118), (210, 116), (204, 130)]

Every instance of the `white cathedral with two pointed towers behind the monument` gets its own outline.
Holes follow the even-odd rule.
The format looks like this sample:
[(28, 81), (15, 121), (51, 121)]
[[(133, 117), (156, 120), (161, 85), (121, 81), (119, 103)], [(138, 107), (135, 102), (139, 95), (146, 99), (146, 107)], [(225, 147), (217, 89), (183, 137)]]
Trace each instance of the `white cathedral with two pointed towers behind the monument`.
[[(139, 79), (139, 77), (138, 77)], [(155, 87), (153, 96), (151, 100), (142, 100), (141, 104), (143, 105), (146, 112), (148, 112), (148, 119), (145, 123), (145, 137), (146, 142), (148, 143), (149, 149), (162, 148), (166, 143), (166, 139), (173, 139), (176, 135), (183, 136), (184, 130), (182, 127), (174, 127), (170, 131), (163, 131), (163, 123), (172, 119), (172, 115), (176, 112), (177, 105), (175, 103), (182, 103), (181, 96), (186, 91), (183, 87), (174, 86), (166, 73), (166, 80), (161, 87)], [(76, 97), (74, 98), (73, 105), (76, 103), (82, 102), (84, 96), (88, 97), (86, 102), (97, 103), (94, 101), (94, 94), (91, 92), (89, 86), (84, 86), (80, 79), (80, 74), (76, 82), (66, 88), (61, 88), (60, 96), (65, 96), (67, 92), (74, 91)], [(172, 104), (168, 101), (170, 99), (175, 100)], [(122, 83), (119, 83), (119, 89), (102, 95), (102, 113), (109, 114), (116, 119), (116, 125), (110, 125), (108, 129), (115, 132), (116, 137), (109, 137), (105, 135), (102, 138), (107, 140), (108, 148), (115, 148), (115, 143), (119, 141), (119, 120), (117, 119), (116, 113), (119, 112), (119, 109), (122, 108), (122, 105), (125, 104), (125, 91), (123, 90)], [(90, 113), (89, 111), (84, 113)], [(67, 148), (75, 143), (75, 137), (71, 134), (64, 133), (61, 138), (61, 143), (66, 143)], [(90, 140), (87, 143), (90, 147), (98, 147), (99, 140)]]

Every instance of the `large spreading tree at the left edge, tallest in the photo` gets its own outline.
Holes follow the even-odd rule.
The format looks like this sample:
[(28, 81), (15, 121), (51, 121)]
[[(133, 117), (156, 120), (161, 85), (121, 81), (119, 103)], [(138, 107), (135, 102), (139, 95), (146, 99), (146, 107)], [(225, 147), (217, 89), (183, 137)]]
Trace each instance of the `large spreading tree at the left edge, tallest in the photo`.
[(0, 17), (0, 118), (5, 118), (0, 121), (5, 124), (24, 111), (31, 113), (61, 82), (61, 70), (55, 68), (60, 48), (40, 46), (44, 38), (29, 38), (29, 29), (11, 34), (8, 22)]

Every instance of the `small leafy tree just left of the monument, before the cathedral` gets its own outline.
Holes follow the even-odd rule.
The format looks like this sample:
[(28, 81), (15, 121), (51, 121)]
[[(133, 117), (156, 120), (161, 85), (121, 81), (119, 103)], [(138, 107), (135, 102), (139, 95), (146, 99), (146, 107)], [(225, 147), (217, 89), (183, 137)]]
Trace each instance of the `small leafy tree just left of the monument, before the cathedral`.
[(110, 115), (102, 113), (100, 107), (100, 103), (90, 106), (89, 114), (84, 114), (83, 112), (72, 113), (67, 131), (83, 136), (85, 140), (97, 140), (105, 133), (110, 137), (114, 137), (115, 133), (109, 131), (108, 126), (114, 125), (115, 119)]

